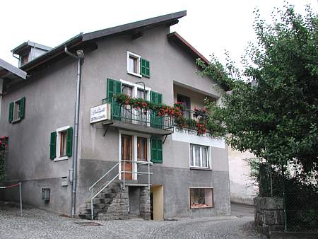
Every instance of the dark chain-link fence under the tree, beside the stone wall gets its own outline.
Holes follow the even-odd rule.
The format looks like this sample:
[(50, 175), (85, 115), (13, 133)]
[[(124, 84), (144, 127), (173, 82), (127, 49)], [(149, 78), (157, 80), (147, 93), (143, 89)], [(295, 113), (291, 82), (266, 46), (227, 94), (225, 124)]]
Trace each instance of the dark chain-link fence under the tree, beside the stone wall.
[(285, 231), (318, 231), (318, 190), (289, 177), (283, 168), (259, 165), (259, 197), (283, 198)]

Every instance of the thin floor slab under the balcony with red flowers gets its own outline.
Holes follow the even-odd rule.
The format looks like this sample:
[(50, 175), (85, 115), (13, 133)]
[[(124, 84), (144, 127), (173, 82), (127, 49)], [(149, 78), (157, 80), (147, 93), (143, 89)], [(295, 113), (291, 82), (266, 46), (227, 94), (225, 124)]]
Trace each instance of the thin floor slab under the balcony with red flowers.
[(103, 125), (110, 124), (112, 127), (117, 127), (120, 129), (127, 129), (129, 131), (134, 132), (143, 132), (147, 134), (157, 134), (157, 135), (167, 135), (173, 133), (173, 127), (169, 129), (158, 129), (154, 127), (149, 127), (142, 124), (133, 124), (131, 122), (122, 122), (119, 120), (107, 120), (105, 122), (102, 122)]

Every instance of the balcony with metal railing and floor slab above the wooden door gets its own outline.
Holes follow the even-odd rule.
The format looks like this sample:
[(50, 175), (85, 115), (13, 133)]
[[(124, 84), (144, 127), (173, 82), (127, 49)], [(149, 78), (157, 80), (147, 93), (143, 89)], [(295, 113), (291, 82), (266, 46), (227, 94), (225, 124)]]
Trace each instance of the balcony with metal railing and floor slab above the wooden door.
[(174, 125), (170, 116), (158, 116), (155, 112), (137, 110), (129, 105), (119, 105), (114, 98), (105, 98), (102, 104), (110, 106), (110, 117), (102, 124), (148, 134), (172, 134)]

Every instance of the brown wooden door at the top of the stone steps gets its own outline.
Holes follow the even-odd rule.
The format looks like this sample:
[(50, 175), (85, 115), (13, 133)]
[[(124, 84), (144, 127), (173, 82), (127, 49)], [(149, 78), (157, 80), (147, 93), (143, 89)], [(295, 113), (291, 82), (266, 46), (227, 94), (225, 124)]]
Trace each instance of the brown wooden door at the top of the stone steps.
[[(122, 170), (125, 172), (132, 172), (132, 136), (122, 134)], [(132, 173), (122, 173), (122, 178), (125, 180), (132, 180)]]

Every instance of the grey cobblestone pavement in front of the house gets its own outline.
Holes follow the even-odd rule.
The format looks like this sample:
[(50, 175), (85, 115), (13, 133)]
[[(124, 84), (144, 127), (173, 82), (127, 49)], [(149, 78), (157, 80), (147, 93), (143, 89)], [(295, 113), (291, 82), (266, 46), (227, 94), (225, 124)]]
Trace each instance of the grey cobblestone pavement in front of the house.
[(0, 204), (0, 238), (263, 238), (251, 216), (180, 218), (178, 221), (94, 221), (67, 218), (27, 206), (19, 216), (17, 205)]

